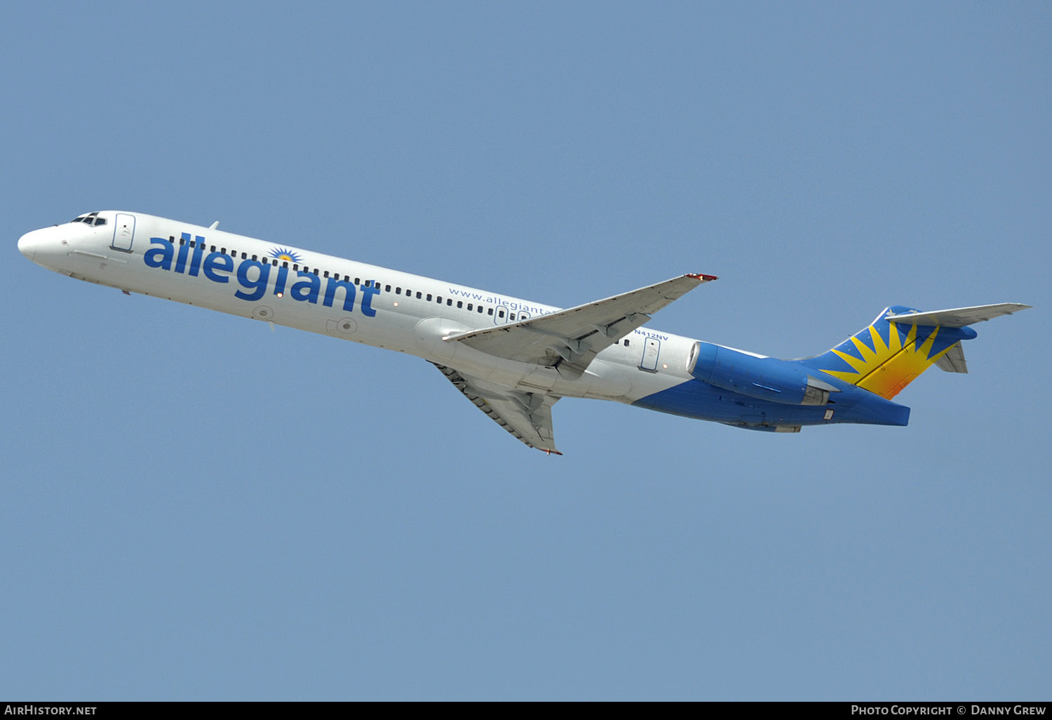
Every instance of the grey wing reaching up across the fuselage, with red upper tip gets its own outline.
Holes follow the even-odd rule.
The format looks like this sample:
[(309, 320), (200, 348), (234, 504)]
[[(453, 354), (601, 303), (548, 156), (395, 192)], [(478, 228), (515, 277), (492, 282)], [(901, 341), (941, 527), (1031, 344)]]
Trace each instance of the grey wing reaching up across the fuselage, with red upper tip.
[(554, 367), (579, 378), (594, 357), (650, 320), (650, 315), (712, 275), (688, 274), (640, 289), (528, 320), (453, 335), (483, 353)]

